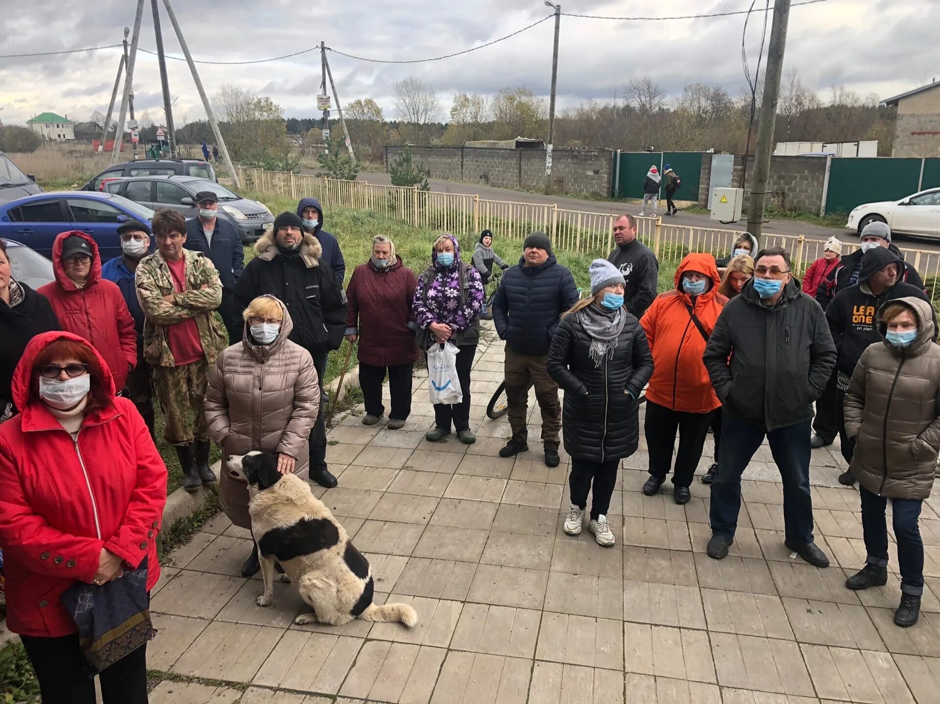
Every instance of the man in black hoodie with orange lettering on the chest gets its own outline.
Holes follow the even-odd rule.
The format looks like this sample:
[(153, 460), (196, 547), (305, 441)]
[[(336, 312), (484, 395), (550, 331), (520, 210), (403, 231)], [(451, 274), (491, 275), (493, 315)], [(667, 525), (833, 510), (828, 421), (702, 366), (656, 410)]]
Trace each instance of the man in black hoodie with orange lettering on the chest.
[[(858, 283), (839, 291), (832, 303), (826, 307), (826, 321), (829, 323), (829, 330), (832, 332), (838, 352), (836, 363), (838, 380), (834, 404), (836, 417), (832, 425), (838, 427), (842, 457), (846, 462), (852, 462), (854, 443), (845, 434), (842, 405), (845, 402), (845, 392), (849, 388), (849, 381), (852, 379), (852, 372), (862, 352), (865, 352), (869, 345), (880, 342), (882, 339), (878, 333), (878, 309), (888, 301), (905, 296), (928, 301), (922, 289), (901, 280), (903, 274), (903, 259), (886, 247), (875, 247), (862, 258)], [(935, 323), (936, 316), (934, 316), (934, 330), (936, 329)], [(847, 486), (855, 483), (851, 472), (844, 472), (838, 480)]]

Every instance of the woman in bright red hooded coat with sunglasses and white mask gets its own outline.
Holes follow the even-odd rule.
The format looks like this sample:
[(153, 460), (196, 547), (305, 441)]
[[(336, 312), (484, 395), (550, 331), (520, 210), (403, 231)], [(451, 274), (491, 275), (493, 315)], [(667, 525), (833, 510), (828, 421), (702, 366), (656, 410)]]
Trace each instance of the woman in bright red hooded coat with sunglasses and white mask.
[[(131, 401), (115, 397), (102, 355), (51, 332), (26, 346), (12, 383), (22, 413), (0, 425), (0, 547), (7, 623), (21, 635), (42, 700), (93, 704), (77, 627), (60, 600), (76, 582), (102, 585), (148, 559), (166, 466)], [(105, 704), (147, 701), (146, 646), (102, 670)]]

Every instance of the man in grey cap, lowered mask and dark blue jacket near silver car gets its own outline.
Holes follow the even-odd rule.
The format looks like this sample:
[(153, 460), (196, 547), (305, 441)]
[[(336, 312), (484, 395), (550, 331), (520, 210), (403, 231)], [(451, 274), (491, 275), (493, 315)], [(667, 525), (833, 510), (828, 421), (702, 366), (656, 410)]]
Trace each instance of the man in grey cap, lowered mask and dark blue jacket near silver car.
[(222, 303), (219, 315), (226, 324), (229, 344), (242, 341), (242, 305), (235, 298), (235, 282), (244, 269), (244, 249), (238, 227), (226, 215), (219, 217), (219, 196), (211, 191), (196, 194), (199, 213), (186, 221), (186, 249), (202, 252), (219, 272)]

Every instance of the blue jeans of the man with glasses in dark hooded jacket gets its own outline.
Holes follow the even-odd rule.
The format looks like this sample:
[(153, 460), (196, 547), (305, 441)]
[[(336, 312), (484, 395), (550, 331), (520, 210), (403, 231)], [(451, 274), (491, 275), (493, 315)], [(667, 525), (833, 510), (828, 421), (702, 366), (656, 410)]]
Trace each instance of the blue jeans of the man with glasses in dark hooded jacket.
[(712, 532), (734, 537), (741, 510), (741, 476), (766, 436), (783, 480), (783, 521), (787, 540), (813, 541), (813, 504), (809, 495), (810, 422), (768, 432), (758, 423), (721, 419), (718, 475), (712, 483)]

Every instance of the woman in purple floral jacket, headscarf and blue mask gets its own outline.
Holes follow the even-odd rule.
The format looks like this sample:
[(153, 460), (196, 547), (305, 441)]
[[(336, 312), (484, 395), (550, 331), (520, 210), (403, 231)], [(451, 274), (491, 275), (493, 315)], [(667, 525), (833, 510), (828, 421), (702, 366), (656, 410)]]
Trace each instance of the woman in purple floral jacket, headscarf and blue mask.
[(431, 249), (431, 266), (418, 277), (415, 289), (415, 322), (420, 328), (418, 347), (427, 352), (433, 344), (450, 340), (457, 355), (461, 380), (460, 403), (435, 403), (434, 427), (425, 437), (432, 443), (450, 434), (453, 423), (462, 443), (477, 437), (470, 430), (470, 368), (477, 353), (479, 314), (483, 310), (483, 283), (473, 266), (461, 261), (461, 245), (453, 235), (441, 235)]

